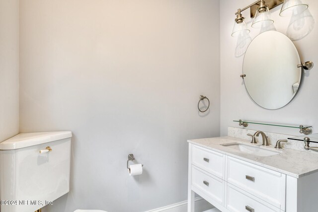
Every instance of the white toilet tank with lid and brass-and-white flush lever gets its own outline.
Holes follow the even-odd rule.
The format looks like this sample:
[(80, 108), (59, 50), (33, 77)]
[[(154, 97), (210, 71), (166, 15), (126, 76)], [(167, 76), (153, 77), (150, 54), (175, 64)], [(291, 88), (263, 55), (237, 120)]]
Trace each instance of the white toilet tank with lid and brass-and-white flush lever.
[(1, 212), (34, 212), (69, 192), (71, 137), (21, 133), (0, 143)]

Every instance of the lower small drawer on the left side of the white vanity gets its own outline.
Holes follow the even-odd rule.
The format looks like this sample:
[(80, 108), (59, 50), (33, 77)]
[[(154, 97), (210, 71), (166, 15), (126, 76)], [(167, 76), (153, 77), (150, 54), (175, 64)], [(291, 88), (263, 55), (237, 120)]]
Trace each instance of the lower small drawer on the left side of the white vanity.
[(224, 203), (224, 185), (225, 182), (218, 177), (215, 177), (198, 167), (192, 166), (192, 187), (199, 190), (198, 195), (201, 192), (213, 199), (220, 205)]

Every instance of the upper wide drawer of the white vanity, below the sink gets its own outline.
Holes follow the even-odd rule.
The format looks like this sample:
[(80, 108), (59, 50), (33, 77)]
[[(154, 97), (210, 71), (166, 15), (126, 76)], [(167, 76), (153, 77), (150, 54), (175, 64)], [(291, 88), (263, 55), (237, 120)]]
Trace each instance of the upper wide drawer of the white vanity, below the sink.
[(285, 174), (228, 156), (226, 178), (228, 183), (285, 210)]

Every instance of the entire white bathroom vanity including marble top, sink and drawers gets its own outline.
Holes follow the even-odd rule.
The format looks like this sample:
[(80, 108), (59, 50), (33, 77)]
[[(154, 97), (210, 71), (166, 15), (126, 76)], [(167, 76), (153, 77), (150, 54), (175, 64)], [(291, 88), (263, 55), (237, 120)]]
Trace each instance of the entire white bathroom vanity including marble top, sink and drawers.
[(222, 212), (318, 211), (318, 154), (229, 136), (188, 142), (188, 212), (195, 193)]

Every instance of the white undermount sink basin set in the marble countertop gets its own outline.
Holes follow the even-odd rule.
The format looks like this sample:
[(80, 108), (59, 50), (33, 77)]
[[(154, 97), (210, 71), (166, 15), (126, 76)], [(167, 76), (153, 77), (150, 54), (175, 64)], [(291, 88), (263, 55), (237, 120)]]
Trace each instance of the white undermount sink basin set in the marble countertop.
[(280, 153), (279, 151), (276, 151), (274, 149), (273, 150), (265, 149), (264, 147), (260, 147), (254, 144), (246, 144), (246, 143), (240, 143), (240, 142), (225, 143), (221, 145), (239, 150), (244, 153), (254, 154), (254, 155), (263, 156), (263, 157)]

